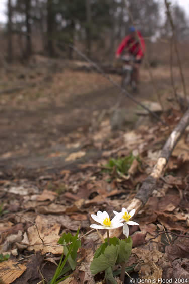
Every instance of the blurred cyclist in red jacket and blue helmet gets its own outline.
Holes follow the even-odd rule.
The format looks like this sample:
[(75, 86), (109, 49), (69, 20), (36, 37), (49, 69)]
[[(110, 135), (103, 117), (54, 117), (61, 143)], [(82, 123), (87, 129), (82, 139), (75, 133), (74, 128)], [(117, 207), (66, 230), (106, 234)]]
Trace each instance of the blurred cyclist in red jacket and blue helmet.
[[(140, 42), (139, 42), (140, 40)], [(116, 51), (116, 58), (119, 58), (121, 53), (132, 55), (135, 57), (134, 62), (134, 72), (132, 75), (132, 80), (138, 84), (139, 82), (139, 67), (142, 62), (145, 53), (145, 41), (140, 33), (135, 27), (131, 26), (129, 28), (129, 35), (126, 36)]]

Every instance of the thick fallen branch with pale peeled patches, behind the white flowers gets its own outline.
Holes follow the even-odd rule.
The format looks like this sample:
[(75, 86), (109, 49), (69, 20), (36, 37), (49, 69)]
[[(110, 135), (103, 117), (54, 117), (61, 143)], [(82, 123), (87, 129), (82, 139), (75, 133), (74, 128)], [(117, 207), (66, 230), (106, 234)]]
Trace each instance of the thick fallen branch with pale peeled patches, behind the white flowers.
[[(158, 158), (157, 164), (154, 167), (150, 176), (146, 178), (143, 182), (139, 192), (136, 194), (135, 198), (131, 201), (131, 204), (127, 207), (127, 203), (123, 203), (122, 207), (127, 207), (128, 211), (135, 209), (138, 212), (148, 201), (149, 197), (152, 195), (153, 190), (156, 188), (156, 184), (163, 174), (165, 167), (169, 161), (169, 158), (178, 143), (178, 140), (181, 138), (186, 127), (189, 124), (189, 108), (181, 118), (178, 125), (174, 128), (169, 138), (167, 139), (160, 157)], [(118, 228), (110, 231), (111, 236), (119, 236), (122, 232), (122, 229)]]

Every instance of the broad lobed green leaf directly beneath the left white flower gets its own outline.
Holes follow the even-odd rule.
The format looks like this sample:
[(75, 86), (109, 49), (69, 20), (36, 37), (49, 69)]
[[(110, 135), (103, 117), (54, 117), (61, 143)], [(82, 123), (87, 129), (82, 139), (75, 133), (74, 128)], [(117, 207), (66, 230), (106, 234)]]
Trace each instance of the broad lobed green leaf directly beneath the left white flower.
[(109, 245), (105, 248), (104, 253), (101, 253), (99, 257), (93, 259), (90, 270), (92, 274), (97, 274), (109, 267), (115, 265), (118, 253), (119, 245)]

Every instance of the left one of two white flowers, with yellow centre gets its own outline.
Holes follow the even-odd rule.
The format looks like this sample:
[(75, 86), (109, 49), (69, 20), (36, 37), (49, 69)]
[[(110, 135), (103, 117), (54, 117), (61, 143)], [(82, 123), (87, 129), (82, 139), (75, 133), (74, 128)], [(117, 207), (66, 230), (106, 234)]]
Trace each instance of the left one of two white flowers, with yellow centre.
[(118, 227), (123, 226), (123, 223), (120, 221), (119, 216), (114, 216), (112, 220), (110, 220), (109, 215), (106, 211), (98, 211), (97, 215), (91, 214), (92, 219), (94, 219), (97, 223), (100, 223), (101, 225), (97, 224), (91, 224), (91, 228), (95, 229), (115, 229)]

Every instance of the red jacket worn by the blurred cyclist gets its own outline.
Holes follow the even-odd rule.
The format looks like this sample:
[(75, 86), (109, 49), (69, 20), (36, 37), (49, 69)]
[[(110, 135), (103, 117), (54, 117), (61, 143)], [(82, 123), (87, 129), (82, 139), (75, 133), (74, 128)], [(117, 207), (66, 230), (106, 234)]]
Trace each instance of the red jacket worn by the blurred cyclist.
[(142, 58), (144, 56), (145, 52), (145, 42), (144, 38), (142, 37), (141, 33), (137, 31), (138, 36), (141, 41), (140, 43), (136, 40), (133, 39), (130, 35), (125, 37), (119, 47), (117, 48), (116, 55), (120, 55), (123, 49), (125, 49), (126, 52), (129, 52), (130, 54), (134, 55), (135, 57), (138, 56), (139, 58)]

